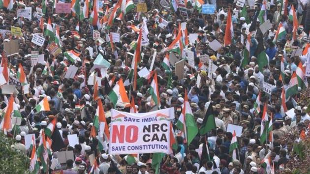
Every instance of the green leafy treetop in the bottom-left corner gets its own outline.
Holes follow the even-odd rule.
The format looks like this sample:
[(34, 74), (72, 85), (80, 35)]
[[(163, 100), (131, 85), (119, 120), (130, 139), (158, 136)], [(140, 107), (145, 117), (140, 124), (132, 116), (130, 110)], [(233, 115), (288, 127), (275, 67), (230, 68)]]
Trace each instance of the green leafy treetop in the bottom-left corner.
[(11, 148), (15, 143), (12, 138), (7, 138), (0, 131), (0, 171), (2, 174), (29, 173), (30, 159), (26, 154)]

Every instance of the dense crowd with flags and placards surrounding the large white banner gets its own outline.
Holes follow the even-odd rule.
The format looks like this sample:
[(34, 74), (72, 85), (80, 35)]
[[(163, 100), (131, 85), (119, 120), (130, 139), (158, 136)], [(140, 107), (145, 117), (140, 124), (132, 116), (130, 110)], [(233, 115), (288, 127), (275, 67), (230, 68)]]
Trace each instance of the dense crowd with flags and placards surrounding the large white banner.
[[(2, 2), (0, 128), (31, 173), (292, 172), (310, 126), (308, 0)], [(95, 127), (98, 112), (109, 126), (112, 109), (171, 107), (171, 154), (111, 155)], [(194, 120), (185, 132), (183, 113)]]

